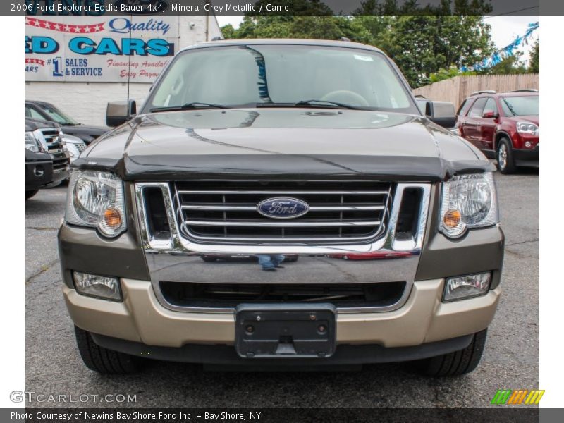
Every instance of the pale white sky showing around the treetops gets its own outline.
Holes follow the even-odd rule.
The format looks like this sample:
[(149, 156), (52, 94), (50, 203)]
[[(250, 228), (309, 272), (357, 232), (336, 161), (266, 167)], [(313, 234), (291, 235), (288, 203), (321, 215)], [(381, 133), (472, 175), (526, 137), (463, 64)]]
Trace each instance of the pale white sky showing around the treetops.
[[(219, 26), (231, 23), (233, 27), (238, 27), (243, 20), (243, 16), (217, 16)], [(527, 25), (539, 20), (538, 16), (487, 16), (486, 23), (491, 25), (491, 39), (498, 49), (502, 49), (506, 45), (513, 42), (517, 35), (525, 34)], [(539, 31), (535, 32), (535, 38), (539, 35)], [(524, 53), (523, 59), (528, 60), (532, 48), (532, 43), (521, 47), (520, 51)]]

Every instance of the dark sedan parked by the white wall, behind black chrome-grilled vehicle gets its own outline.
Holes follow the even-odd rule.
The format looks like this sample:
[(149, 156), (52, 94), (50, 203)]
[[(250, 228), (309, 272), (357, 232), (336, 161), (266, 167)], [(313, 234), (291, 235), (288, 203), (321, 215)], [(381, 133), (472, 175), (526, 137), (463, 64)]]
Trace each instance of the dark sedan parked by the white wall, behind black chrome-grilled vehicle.
[(56, 106), (47, 102), (26, 100), (25, 116), (27, 118), (59, 123), (66, 135), (78, 137), (87, 145), (110, 130), (110, 128), (104, 126), (83, 125), (82, 123), (78, 123), (75, 119), (57, 109)]

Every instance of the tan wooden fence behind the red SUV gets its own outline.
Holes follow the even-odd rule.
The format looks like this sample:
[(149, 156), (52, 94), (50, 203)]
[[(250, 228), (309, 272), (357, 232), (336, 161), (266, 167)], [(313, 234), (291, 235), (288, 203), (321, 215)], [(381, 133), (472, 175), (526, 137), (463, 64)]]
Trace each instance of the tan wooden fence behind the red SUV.
[(474, 91), (495, 90), (508, 92), (525, 88), (539, 89), (538, 73), (523, 73), (519, 75), (474, 75), (456, 76), (448, 80), (435, 82), (413, 90), (430, 100), (453, 102), (455, 107), (464, 101)]

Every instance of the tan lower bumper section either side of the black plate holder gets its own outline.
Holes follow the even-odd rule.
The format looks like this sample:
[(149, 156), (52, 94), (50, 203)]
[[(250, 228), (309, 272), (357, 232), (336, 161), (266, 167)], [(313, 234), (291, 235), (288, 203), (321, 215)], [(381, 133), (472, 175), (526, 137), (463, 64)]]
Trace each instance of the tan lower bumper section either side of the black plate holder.
[[(386, 348), (421, 345), (486, 329), (494, 318), (500, 288), (482, 297), (441, 302), (443, 279), (417, 281), (400, 309), (338, 314), (338, 344), (378, 344)], [(77, 326), (104, 336), (145, 345), (181, 348), (189, 344), (233, 345), (233, 314), (178, 312), (163, 307), (149, 281), (122, 279), (123, 302), (79, 295), (63, 288)]]

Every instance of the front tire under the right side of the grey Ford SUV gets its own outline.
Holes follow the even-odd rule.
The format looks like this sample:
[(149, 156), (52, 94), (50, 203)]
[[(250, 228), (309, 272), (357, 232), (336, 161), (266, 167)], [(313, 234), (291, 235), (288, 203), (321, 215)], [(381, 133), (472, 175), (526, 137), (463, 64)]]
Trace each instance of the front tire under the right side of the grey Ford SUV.
[(460, 376), (474, 370), (484, 353), (488, 330), (474, 333), (472, 342), (463, 350), (419, 360), (419, 372), (426, 376)]

